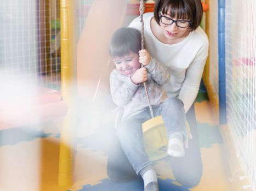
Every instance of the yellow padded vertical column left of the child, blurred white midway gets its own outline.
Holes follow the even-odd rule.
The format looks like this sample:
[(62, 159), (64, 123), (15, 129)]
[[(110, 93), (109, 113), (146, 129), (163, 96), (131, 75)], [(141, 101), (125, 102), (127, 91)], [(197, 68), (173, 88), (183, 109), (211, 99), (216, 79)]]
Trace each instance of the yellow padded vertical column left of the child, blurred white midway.
[(73, 183), (76, 119), (76, 53), (74, 1), (61, 0), (61, 94), (69, 109), (62, 121), (58, 184)]

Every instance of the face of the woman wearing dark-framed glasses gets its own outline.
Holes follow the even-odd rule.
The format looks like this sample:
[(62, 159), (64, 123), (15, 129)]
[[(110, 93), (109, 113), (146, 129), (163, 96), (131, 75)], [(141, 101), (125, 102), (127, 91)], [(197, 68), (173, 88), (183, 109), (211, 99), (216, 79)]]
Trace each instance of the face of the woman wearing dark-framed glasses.
[[(177, 17), (170, 17), (168, 14), (162, 14), (162, 20), (167, 21), (169, 20), (169, 23), (172, 23), (172, 20), (174, 22), (172, 25), (166, 25), (160, 21), (160, 28), (163, 32), (164, 38), (166, 38), (166, 41), (173, 42), (173, 43), (178, 43), (179, 41), (183, 40), (187, 35), (189, 35), (190, 29), (189, 26), (185, 28), (181, 28), (177, 26)], [(189, 21), (187, 19), (184, 19), (182, 21), (178, 21), (178, 23)], [(179, 24), (178, 24), (179, 25)]]

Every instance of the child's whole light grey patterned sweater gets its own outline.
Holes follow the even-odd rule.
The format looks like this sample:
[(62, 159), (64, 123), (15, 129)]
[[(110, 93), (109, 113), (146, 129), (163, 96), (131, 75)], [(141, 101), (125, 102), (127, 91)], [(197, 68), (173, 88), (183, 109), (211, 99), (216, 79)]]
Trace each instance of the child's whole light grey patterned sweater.
[[(146, 68), (150, 103), (160, 105), (167, 98), (162, 85), (170, 80), (170, 69), (152, 57)], [(113, 102), (124, 107), (122, 120), (138, 114), (149, 106), (143, 84), (135, 85), (129, 76), (119, 74), (116, 69), (110, 74), (110, 90)]]

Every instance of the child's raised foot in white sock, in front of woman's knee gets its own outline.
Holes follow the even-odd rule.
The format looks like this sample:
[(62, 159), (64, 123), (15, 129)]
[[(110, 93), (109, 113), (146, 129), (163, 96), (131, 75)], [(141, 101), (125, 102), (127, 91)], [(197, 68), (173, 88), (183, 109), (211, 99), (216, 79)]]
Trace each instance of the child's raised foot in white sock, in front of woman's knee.
[(180, 133), (170, 134), (167, 153), (172, 157), (183, 157), (185, 154), (183, 146), (183, 135)]

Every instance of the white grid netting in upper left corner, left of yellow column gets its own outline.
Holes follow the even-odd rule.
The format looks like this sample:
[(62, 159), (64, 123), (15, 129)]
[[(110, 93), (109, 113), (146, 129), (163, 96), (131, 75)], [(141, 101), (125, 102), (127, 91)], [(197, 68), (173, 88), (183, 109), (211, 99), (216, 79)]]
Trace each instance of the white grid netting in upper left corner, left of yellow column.
[(1, 0), (0, 74), (57, 88), (59, 23), (58, 0)]

